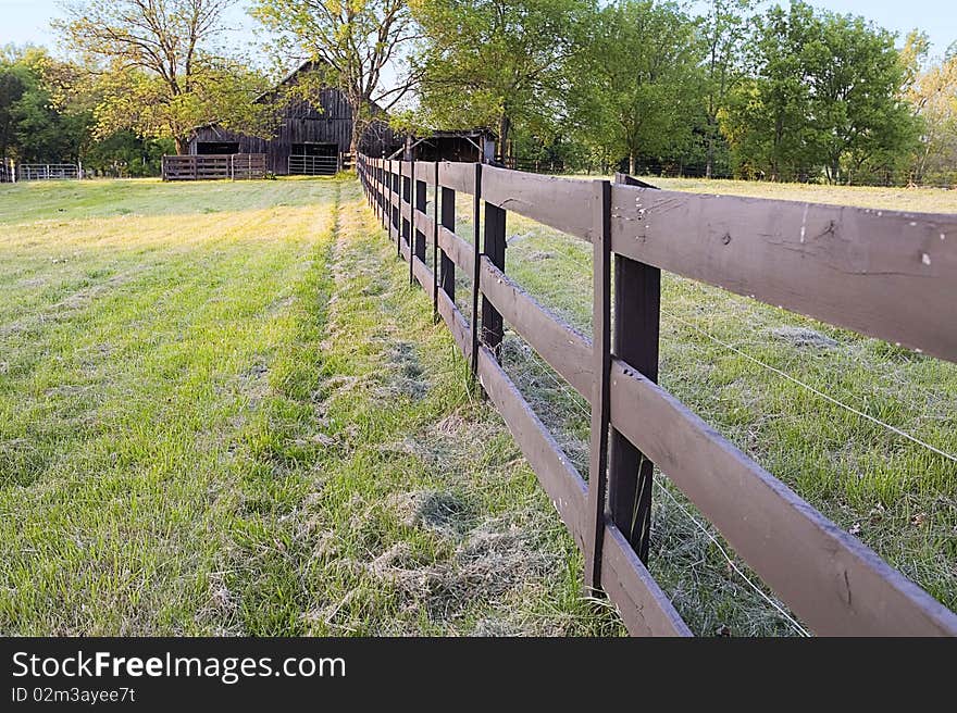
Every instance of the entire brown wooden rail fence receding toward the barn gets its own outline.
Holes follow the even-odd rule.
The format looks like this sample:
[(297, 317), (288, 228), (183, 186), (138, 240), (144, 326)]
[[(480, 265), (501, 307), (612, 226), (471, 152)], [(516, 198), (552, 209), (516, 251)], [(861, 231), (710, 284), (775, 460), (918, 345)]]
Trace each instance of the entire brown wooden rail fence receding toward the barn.
[[(357, 170), (410, 278), (433, 297), (585, 554), (586, 584), (608, 595), (632, 634), (691, 635), (644, 564), (657, 463), (815, 633), (957, 635), (957, 615), (656, 384), (661, 270), (957, 361), (957, 215), (682, 193), (625, 176), (611, 184), (481, 164), (359, 157)], [(474, 198), (472, 245), (455, 233), (457, 192)], [(506, 275), (507, 211), (592, 243), (592, 340)], [(457, 268), (472, 277), (477, 325), (456, 307)], [(592, 404), (587, 483), (501, 368), (504, 322)]]

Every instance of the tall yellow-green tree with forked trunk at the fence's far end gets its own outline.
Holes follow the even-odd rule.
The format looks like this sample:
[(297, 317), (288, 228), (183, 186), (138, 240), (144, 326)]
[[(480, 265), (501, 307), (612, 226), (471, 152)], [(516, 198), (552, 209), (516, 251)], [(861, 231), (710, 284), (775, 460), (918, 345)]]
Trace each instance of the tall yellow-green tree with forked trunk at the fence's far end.
[(308, 98), (334, 87), (346, 97), (353, 154), (370, 123), (413, 83), (403, 77), (398, 86), (382, 86), (384, 73), (395, 68), (415, 37), (405, 0), (257, 0), (252, 13), (277, 34), (283, 54), (312, 62), (312, 72), (297, 77), (294, 91)]

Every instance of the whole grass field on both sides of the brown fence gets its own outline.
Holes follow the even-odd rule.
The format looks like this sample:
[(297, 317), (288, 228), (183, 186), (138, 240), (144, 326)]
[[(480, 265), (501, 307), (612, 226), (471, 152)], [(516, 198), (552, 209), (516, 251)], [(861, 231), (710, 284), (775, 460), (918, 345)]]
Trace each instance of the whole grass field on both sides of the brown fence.
[[(0, 633), (621, 634), (394, 252), (348, 179), (0, 188)], [(510, 215), (507, 261), (589, 330), (587, 245)], [(947, 453), (957, 368), (673, 276), (663, 310), (662, 384), (957, 606), (955, 463), (753, 360)], [(506, 346), (584, 467), (587, 404)], [(799, 633), (659, 483), (650, 566), (692, 628)]]

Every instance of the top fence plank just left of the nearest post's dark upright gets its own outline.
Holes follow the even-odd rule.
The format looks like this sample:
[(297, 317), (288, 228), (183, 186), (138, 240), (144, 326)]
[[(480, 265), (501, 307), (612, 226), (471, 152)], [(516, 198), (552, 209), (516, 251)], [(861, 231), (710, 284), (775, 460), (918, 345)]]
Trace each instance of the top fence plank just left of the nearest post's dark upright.
[(593, 182), (486, 166), (482, 199), (576, 238), (592, 240), (597, 200)]

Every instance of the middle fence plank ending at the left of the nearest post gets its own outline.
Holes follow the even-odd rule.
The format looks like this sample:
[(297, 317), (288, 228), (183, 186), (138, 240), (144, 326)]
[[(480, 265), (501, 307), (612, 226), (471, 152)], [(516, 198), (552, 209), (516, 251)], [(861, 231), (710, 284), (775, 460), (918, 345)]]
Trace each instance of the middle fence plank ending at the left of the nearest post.
[(595, 367), (588, 338), (542, 307), (486, 258), (482, 259), (481, 280), (483, 293), (515, 333), (591, 402)]

